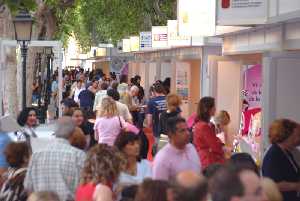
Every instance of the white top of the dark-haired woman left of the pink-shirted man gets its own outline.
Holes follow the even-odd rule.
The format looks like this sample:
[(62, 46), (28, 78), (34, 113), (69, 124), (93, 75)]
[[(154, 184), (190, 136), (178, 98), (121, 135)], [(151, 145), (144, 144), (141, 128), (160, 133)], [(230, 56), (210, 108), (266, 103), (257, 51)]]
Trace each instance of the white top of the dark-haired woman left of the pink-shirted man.
[(137, 163), (137, 174), (135, 176), (121, 172), (119, 177), (120, 185), (140, 184), (145, 178), (152, 177), (152, 169), (148, 160), (141, 160)]

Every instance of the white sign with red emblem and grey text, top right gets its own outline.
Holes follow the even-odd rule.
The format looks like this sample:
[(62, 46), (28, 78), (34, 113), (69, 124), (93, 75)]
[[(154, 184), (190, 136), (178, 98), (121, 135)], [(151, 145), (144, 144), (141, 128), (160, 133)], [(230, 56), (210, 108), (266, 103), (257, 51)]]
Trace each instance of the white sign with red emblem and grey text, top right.
[(218, 0), (217, 25), (264, 24), (267, 0)]

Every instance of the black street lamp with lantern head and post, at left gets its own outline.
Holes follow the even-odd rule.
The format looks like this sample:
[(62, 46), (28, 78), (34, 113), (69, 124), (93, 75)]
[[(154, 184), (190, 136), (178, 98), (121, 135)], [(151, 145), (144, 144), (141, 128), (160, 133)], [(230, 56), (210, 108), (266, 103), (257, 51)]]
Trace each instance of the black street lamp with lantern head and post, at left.
[(15, 27), (15, 39), (21, 46), (22, 54), (22, 107), (26, 108), (26, 58), (28, 43), (31, 40), (33, 19), (25, 10), (20, 13), (13, 20)]

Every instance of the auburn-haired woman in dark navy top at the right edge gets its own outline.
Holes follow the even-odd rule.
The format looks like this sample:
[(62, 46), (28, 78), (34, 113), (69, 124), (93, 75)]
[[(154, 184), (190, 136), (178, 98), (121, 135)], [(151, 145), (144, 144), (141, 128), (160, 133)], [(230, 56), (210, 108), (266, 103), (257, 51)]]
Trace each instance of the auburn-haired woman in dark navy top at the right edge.
[(300, 145), (300, 126), (289, 119), (275, 120), (269, 129), (272, 144), (262, 165), (262, 174), (273, 179), (284, 201), (300, 200), (300, 168), (291, 151)]

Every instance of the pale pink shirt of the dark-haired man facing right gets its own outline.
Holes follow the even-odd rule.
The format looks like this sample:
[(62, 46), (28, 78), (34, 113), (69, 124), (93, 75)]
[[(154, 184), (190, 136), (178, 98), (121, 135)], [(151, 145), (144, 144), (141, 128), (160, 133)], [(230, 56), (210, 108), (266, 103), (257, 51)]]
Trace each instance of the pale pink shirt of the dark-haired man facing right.
[(153, 179), (170, 180), (187, 170), (201, 173), (200, 159), (194, 145), (187, 144), (185, 149), (180, 150), (168, 143), (155, 156)]

